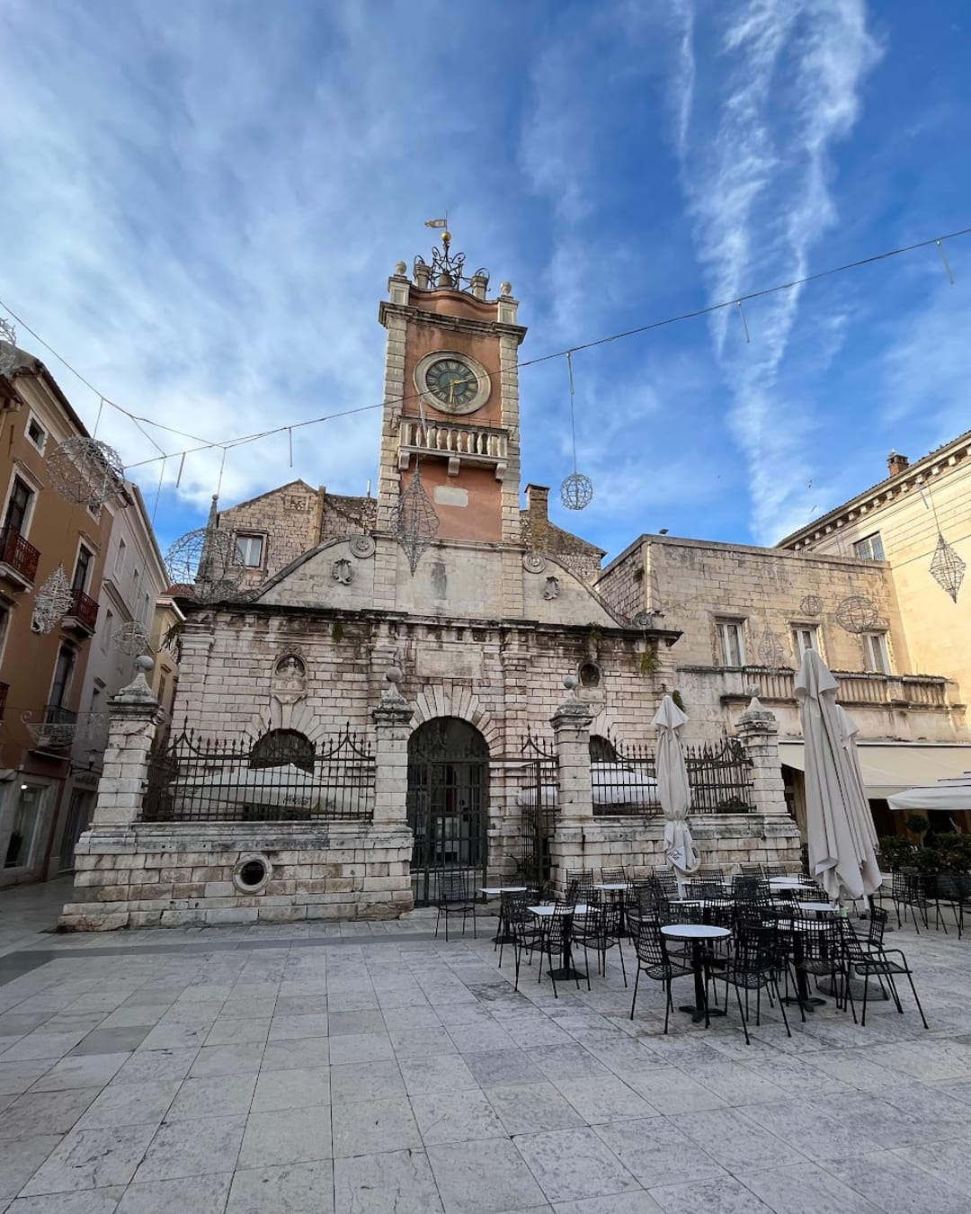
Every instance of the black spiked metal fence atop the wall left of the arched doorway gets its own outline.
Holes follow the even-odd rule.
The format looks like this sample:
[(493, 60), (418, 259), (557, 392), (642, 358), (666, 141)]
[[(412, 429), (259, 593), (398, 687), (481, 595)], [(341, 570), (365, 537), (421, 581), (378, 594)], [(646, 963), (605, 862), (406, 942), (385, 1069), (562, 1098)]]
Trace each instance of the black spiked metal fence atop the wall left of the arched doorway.
[(370, 745), (350, 727), (299, 754), (183, 731), (149, 761), (142, 821), (370, 821), (374, 773)]

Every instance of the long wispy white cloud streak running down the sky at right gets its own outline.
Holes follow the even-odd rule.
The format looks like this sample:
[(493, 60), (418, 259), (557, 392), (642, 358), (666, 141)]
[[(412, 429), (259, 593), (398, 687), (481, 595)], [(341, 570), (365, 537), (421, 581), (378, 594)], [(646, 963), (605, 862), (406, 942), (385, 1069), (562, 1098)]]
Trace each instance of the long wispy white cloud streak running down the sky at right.
[[(693, 10), (680, 10), (683, 47)], [(683, 50), (674, 89), (682, 178), (715, 301), (807, 273), (836, 216), (833, 149), (859, 115), (879, 47), (864, 0), (745, 0), (723, 10), (719, 56), (727, 74), (710, 112), (686, 120), (697, 69)], [(765, 541), (811, 509), (811, 490), (795, 487), (808, 486), (812, 466), (779, 385), (800, 304), (795, 288), (750, 308), (750, 345), (727, 311), (712, 322)]]

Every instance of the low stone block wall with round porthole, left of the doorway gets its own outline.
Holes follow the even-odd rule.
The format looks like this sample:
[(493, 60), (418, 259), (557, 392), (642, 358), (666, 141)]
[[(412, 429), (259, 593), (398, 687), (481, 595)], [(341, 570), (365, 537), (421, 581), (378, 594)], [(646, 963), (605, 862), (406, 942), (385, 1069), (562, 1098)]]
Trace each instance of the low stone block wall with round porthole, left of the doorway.
[[(266, 863), (248, 890), (239, 869)], [(411, 909), (411, 832), (398, 826), (135, 824), (81, 835), (68, 931), (391, 919)]]

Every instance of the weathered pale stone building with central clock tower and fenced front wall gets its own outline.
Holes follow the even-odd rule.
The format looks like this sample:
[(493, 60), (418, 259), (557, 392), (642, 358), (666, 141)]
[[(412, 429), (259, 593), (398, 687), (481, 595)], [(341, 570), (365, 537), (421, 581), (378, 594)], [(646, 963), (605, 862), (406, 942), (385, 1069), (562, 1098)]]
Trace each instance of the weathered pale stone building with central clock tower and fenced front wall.
[[(511, 285), (489, 299), (445, 245), (411, 276), (398, 265), (380, 320), (376, 498), (296, 481), (214, 504), (244, 594), (209, 601), (200, 578), (181, 605), (175, 714), (192, 736), (160, 762), (147, 686), (118, 698), (64, 926), (398, 914), (455, 866), (482, 883), (529, 862), (562, 884), (663, 862), (655, 801), (604, 777), (628, 779), (614, 739), (653, 770), (681, 630), (611, 606), (604, 554), (550, 522), (546, 488), (522, 505)], [(756, 708), (722, 762), (736, 782), (697, 827), (711, 860), (797, 857), (774, 728)], [(316, 807), (268, 812), (272, 779)]]

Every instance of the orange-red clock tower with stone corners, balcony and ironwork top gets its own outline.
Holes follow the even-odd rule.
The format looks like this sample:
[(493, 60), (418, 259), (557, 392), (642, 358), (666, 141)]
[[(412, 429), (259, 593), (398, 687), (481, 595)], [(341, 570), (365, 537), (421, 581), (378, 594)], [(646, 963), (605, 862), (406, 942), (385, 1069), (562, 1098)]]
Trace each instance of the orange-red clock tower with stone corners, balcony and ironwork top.
[(390, 532), (418, 475), (438, 541), (513, 544), (519, 538), (518, 347), (526, 329), (502, 283), (488, 299), (486, 270), (442, 249), (398, 262), (380, 320), (387, 329), (377, 529)]

